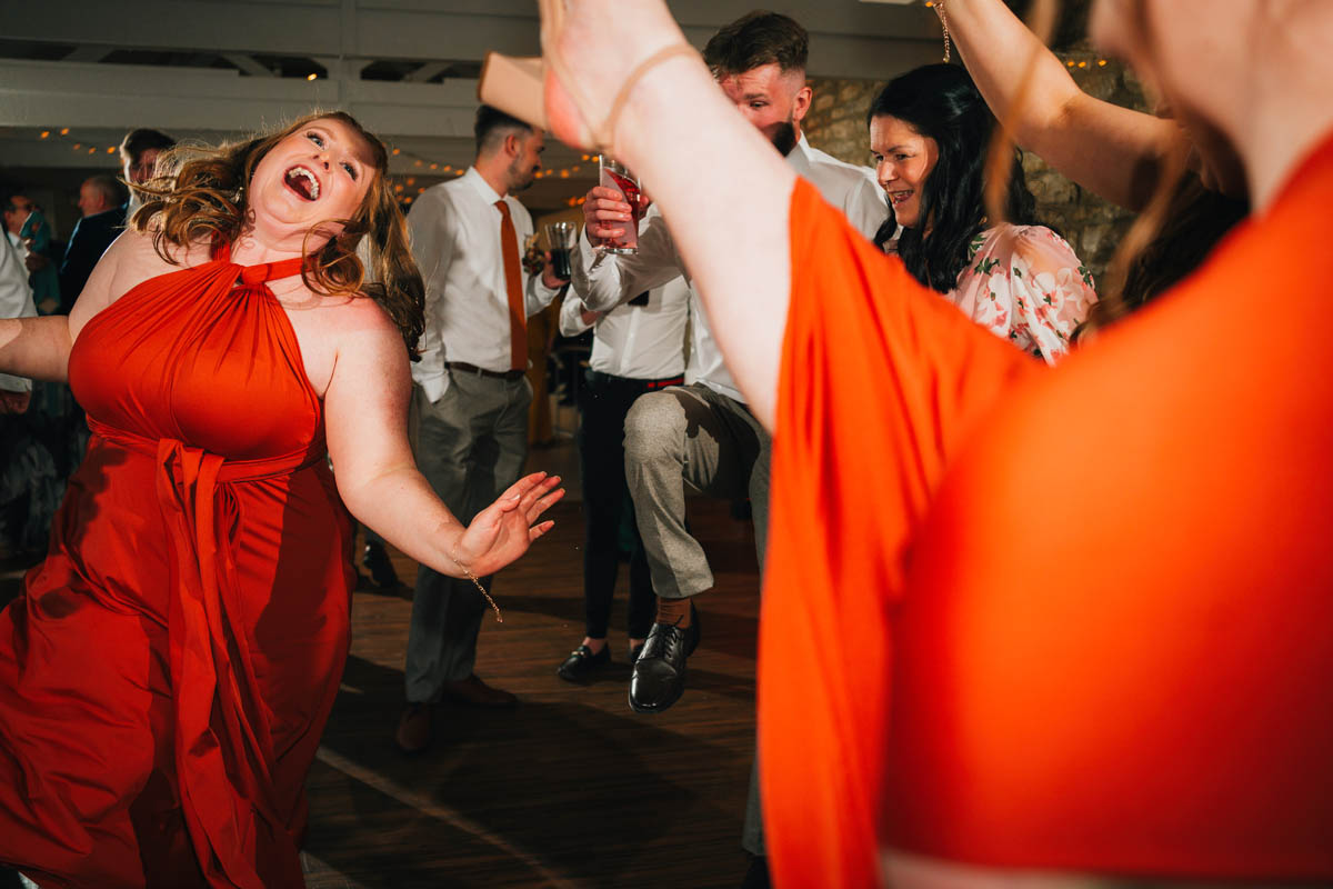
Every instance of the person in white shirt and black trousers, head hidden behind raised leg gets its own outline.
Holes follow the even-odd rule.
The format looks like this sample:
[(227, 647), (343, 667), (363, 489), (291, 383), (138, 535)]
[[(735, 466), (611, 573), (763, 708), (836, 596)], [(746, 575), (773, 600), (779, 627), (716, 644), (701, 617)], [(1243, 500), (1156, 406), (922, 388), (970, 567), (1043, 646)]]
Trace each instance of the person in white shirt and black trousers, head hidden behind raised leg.
[(593, 328), (592, 356), (579, 388), (579, 464), (584, 496), (584, 640), (560, 665), (577, 682), (611, 664), (607, 625), (620, 566), (621, 513), (629, 513), (629, 662), (653, 625), (656, 598), (648, 554), (625, 488), (625, 415), (641, 395), (684, 383), (689, 285), (676, 277), (608, 313), (588, 312), (576, 293), (560, 307), (560, 332)]

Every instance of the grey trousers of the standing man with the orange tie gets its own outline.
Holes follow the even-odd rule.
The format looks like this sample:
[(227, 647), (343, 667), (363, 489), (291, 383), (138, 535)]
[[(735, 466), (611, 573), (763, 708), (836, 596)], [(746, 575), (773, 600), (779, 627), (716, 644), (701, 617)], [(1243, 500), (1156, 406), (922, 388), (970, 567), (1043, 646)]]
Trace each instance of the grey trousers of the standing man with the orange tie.
[[(465, 372), (451, 372), (451, 379), (435, 404), (420, 387), (413, 391), (416, 460), (440, 500), (468, 524), (523, 472), (532, 385), (525, 377), (497, 380)], [(491, 589), (491, 577), (481, 582)], [(403, 670), (408, 701), (433, 701), (444, 682), (472, 674), (487, 608), (472, 581), (425, 566), (417, 572)]]

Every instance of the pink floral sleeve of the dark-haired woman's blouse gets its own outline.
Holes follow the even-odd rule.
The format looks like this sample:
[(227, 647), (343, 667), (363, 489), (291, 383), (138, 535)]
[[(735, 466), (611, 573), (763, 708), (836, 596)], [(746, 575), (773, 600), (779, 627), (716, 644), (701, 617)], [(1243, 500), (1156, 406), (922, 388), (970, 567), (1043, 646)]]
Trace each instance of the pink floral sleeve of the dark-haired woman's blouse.
[(958, 287), (946, 299), (994, 335), (1054, 364), (1097, 293), (1065, 239), (1042, 225), (1005, 224), (972, 241)]

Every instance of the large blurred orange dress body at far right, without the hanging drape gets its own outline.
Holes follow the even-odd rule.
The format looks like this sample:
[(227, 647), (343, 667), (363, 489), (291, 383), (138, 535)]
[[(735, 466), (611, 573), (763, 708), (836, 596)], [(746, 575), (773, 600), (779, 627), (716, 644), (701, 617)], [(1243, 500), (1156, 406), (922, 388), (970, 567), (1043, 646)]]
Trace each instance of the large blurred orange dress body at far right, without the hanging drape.
[(1333, 133), (953, 456), (894, 616), (893, 848), (1333, 880), (1330, 205)]

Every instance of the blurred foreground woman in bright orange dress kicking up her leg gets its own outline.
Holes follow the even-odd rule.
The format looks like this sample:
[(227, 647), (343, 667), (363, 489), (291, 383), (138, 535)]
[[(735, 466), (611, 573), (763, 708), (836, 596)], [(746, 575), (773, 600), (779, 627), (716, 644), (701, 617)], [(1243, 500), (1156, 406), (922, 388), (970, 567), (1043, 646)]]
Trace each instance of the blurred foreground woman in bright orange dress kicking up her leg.
[(1306, 269), (1333, 4), (1225, 5), (1096, 0), (1093, 32), (1234, 151), (1254, 216), (1045, 369), (784, 171), (665, 7), (544, 4), (553, 131), (653, 183), (774, 431), (778, 885), (1333, 878), (1333, 316)]

